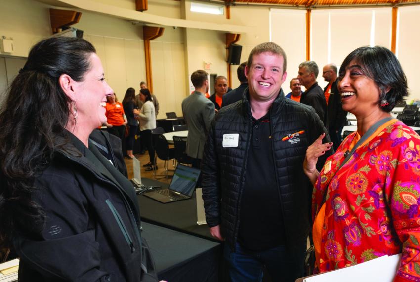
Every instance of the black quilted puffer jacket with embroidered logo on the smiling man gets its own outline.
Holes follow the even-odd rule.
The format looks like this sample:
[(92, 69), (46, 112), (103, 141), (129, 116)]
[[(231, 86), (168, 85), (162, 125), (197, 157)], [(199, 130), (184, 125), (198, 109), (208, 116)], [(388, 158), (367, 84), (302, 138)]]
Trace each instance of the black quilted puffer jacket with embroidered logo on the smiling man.
[[(222, 108), (215, 116), (203, 155), (203, 200), (210, 227), (221, 224), (222, 235), (234, 248), (240, 222), (240, 201), (252, 132), (248, 89), (242, 101)], [(306, 149), (327, 132), (312, 107), (285, 99), (283, 90), (270, 108), (275, 171), (287, 244), (304, 240), (310, 229), (312, 186), (302, 169)], [(303, 131), (303, 132), (302, 132)], [(300, 132), (292, 137), (290, 134)], [(223, 148), (224, 134), (239, 134), (238, 147)], [(292, 137), (292, 138), (288, 138)], [(323, 142), (329, 142), (328, 136)], [(327, 155), (319, 160), (322, 167)]]

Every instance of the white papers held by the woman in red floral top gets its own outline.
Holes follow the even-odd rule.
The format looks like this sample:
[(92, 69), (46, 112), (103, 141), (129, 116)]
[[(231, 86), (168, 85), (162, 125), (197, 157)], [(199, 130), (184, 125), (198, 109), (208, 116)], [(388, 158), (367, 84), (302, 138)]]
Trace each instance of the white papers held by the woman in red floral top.
[(353, 266), (332, 270), (304, 278), (296, 282), (392, 282), (400, 266), (401, 254), (381, 256)]

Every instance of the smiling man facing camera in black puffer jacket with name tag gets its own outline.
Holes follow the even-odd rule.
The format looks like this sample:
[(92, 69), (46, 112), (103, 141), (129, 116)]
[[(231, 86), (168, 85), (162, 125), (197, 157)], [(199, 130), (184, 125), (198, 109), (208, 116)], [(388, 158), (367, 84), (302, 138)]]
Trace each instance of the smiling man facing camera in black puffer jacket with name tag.
[(202, 165), (206, 221), (212, 236), (226, 240), (233, 282), (261, 281), (264, 266), (272, 281), (294, 282), (303, 276), (311, 226), (312, 187), (302, 163), (326, 129), (312, 108), (285, 99), (280, 46), (256, 46), (245, 74), (242, 101), (222, 108), (210, 126)]

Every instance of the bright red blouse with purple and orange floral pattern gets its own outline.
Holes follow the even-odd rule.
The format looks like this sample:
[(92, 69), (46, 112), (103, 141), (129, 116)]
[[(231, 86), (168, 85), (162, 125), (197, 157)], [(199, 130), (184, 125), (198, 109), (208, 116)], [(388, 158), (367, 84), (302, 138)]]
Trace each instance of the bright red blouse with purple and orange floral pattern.
[[(321, 170), (314, 218), (355, 134)], [(410, 127), (397, 121), (356, 149), (334, 175), (325, 204), (320, 272), (402, 252), (394, 281), (420, 282), (420, 137)]]

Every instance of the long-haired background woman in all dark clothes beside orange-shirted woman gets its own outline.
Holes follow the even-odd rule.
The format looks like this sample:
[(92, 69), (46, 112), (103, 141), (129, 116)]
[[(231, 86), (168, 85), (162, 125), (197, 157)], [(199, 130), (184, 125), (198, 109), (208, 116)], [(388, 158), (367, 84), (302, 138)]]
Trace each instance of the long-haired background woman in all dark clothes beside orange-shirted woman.
[(133, 155), (133, 147), (134, 147), (134, 137), (137, 131), (138, 122), (134, 115), (134, 99), (135, 99), (135, 90), (134, 88), (128, 88), (126, 91), (126, 95), (123, 99), (123, 107), (124, 112), (126, 113), (127, 117), (127, 126), (128, 126), (128, 136), (126, 136), (126, 149), (127, 149), (127, 156), (129, 158), (135, 158)]

